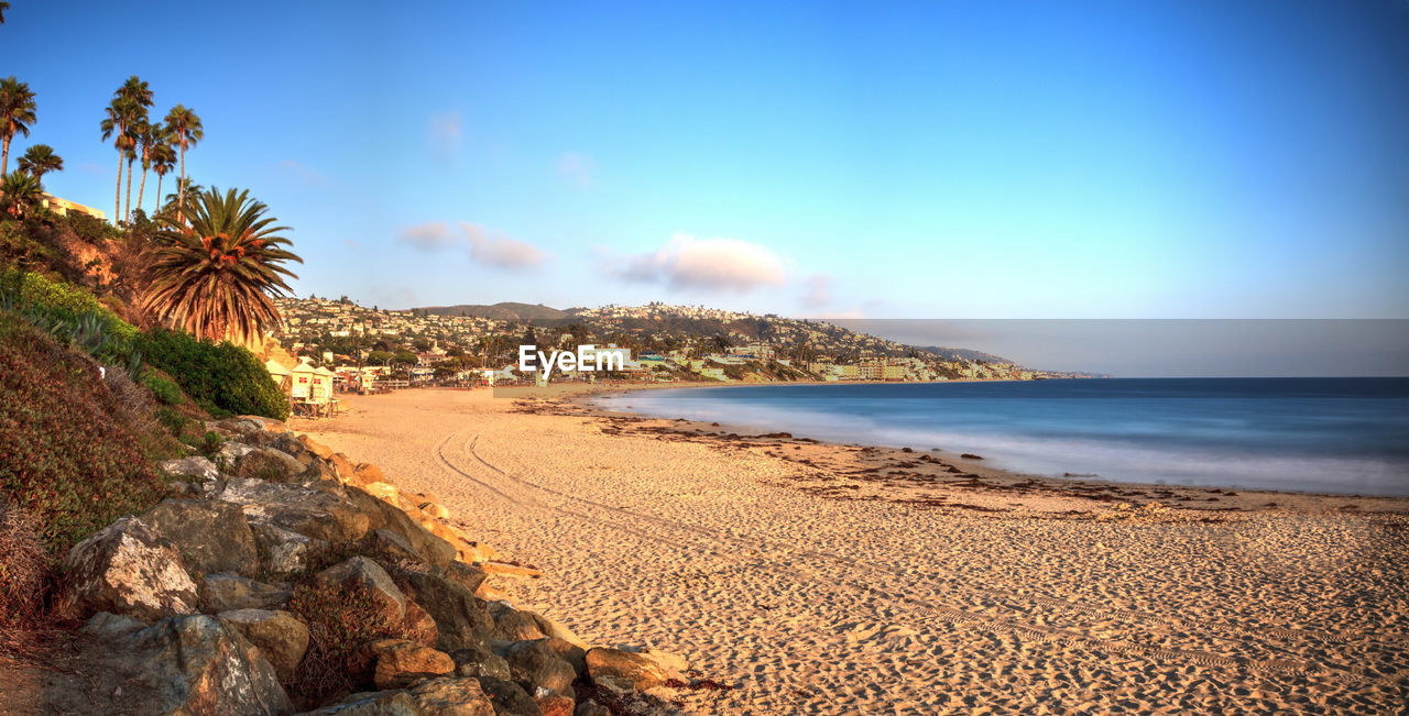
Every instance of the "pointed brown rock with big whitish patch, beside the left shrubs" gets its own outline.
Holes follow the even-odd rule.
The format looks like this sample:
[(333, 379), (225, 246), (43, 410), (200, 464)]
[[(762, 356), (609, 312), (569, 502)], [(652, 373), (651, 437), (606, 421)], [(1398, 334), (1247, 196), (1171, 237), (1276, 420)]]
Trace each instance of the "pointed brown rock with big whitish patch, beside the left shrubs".
[(180, 554), (137, 518), (121, 518), (63, 557), (61, 613), (97, 612), (144, 622), (196, 610), (196, 582)]

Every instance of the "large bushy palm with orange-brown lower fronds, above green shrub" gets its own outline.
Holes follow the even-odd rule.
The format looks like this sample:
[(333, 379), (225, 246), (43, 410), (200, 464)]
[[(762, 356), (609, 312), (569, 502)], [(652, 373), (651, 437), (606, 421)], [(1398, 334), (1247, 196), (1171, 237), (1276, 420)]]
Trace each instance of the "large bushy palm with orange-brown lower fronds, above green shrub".
[(283, 267), (299, 262), (289, 239), (249, 191), (211, 187), (190, 203), (187, 221), (161, 217), (142, 305), (161, 322), (196, 338), (256, 343), (279, 324), (271, 297), (290, 295)]

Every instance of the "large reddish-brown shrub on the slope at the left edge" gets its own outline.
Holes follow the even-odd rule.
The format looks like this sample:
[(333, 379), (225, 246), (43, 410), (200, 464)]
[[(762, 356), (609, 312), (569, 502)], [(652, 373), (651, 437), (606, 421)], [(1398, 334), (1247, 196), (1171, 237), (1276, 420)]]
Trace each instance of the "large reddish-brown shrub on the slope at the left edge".
[(61, 554), (165, 495), (99, 366), (0, 312), (0, 492)]

